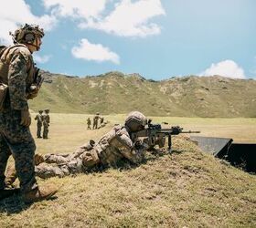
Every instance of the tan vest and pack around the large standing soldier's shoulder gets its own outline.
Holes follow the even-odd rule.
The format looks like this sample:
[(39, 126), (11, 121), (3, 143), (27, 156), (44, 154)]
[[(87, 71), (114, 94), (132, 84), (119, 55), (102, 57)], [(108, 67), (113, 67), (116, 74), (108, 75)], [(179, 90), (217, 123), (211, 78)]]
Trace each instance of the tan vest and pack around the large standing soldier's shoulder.
[(27, 49), (25, 45), (17, 44), (12, 47), (3, 47), (2, 55), (0, 55), (0, 82), (8, 85), (8, 73), (9, 73), (9, 65), (12, 57), (16, 53), (17, 50), (22, 51), (27, 56), (27, 88), (33, 83), (34, 80), (34, 62), (31, 53)]

